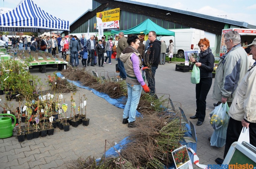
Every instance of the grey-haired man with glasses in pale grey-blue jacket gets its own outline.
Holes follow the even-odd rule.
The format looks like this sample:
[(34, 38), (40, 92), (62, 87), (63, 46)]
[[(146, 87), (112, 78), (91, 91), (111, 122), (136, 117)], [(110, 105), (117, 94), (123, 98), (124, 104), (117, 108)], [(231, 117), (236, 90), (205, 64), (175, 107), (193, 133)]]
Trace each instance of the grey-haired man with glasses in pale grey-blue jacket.
[[(218, 68), (216, 69), (213, 86), (212, 99), (218, 104), (226, 103), (231, 106), (236, 93), (236, 88), (248, 70), (248, 57), (240, 42), (238, 32), (229, 31), (224, 34), (225, 43), (229, 50), (220, 57)], [(224, 152), (224, 158), (227, 152)], [(222, 164), (223, 159), (215, 159), (217, 164)]]

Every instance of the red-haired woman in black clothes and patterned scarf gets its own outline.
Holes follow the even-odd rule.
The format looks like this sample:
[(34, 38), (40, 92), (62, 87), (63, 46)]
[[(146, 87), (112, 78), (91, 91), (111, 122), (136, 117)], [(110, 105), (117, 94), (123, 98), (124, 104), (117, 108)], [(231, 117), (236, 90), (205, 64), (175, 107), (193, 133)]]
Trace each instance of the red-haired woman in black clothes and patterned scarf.
[(194, 62), (200, 69), (200, 82), (196, 84), (196, 115), (190, 118), (198, 118), (197, 126), (201, 126), (205, 118), (206, 96), (212, 86), (212, 71), (215, 59), (208, 39), (200, 39), (198, 46), (200, 48), (199, 60), (196, 61), (195, 58), (190, 57), (190, 61)]

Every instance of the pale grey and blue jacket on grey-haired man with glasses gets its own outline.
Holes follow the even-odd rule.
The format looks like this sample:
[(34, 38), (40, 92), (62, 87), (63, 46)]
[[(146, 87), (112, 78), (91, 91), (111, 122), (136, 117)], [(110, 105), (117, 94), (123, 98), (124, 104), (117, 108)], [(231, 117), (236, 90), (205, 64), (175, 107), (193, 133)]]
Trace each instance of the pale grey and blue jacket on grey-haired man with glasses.
[(212, 99), (220, 101), (222, 96), (232, 102), (236, 88), (248, 70), (248, 57), (240, 44), (220, 57), (216, 69)]

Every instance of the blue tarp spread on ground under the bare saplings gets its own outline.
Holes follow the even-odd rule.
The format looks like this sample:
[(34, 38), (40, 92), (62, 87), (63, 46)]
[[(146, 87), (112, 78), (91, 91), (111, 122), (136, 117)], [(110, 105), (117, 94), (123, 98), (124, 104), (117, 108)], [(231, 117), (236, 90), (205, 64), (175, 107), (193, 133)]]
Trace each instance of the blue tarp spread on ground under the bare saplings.
[[(58, 77), (63, 77), (62, 74), (60, 74), (60, 73), (56, 73), (56, 75), (57, 75)], [(68, 80), (68, 79), (67, 79), (67, 80)], [(101, 93), (101, 92), (96, 91), (95, 89), (92, 89), (92, 88), (90, 88), (90, 87), (86, 87), (86, 86), (81, 85), (80, 82), (76, 82), (76, 81), (72, 81), (72, 80), (68, 80), (68, 81), (71, 82), (71, 83), (73, 83), (73, 84), (75, 84), (75, 85), (78, 86), (78, 87), (81, 87), (81, 88), (84, 88), (84, 89), (87, 89), (87, 90), (92, 91), (95, 95), (97, 95), (97, 96), (99, 96), (99, 97), (101, 97), (101, 98), (104, 98), (108, 103), (110, 103), (110, 104), (112, 104), (112, 105), (114, 105), (114, 106), (116, 106), (116, 107), (119, 107), (119, 108), (121, 108), (121, 109), (124, 109), (124, 107), (125, 107), (125, 105), (123, 105), (122, 103), (120, 103), (120, 102), (126, 102), (126, 101), (125, 101), (125, 100), (126, 100), (125, 97), (121, 97), (121, 98), (118, 98), (118, 99), (113, 99), (113, 98), (110, 98), (110, 97), (109, 97), (107, 94), (105, 94), (105, 93)], [(141, 114), (140, 114), (138, 111), (136, 111), (136, 117), (140, 117), (140, 116), (141, 116)], [(186, 123), (185, 126), (186, 126), (186, 128), (187, 128), (187, 132), (185, 132), (185, 135), (184, 135), (184, 136), (185, 136), (185, 137), (192, 137), (190, 125)], [(128, 138), (128, 137), (125, 137), (122, 141), (120, 141), (118, 144), (114, 145), (113, 147), (114, 147), (116, 150), (122, 150), (123, 147), (125, 147), (125, 144), (127, 144), (127, 142), (128, 142), (128, 139), (127, 139), (127, 138)], [(186, 143), (186, 142), (184, 141), (184, 139), (181, 140), (180, 143), (181, 143), (182, 145), (186, 145), (187, 147), (192, 148), (195, 152), (197, 152), (197, 144), (196, 144), (196, 143)], [(116, 150), (114, 150), (113, 147), (111, 147), (110, 149), (108, 149), (108, 150), (106, 151), (106, 157), (108, 157), (108, 156), (118, 156), (118, 153), (116, 152)], [(190, 151), (188, 151), (188, 154), (189, 154), (189, 156), (190, 156), (191, 162), (193, 163), (194, 155), (193, 155)], [(173, 168), (173, 167), (175, 167), (175, 166), (170, 166), (169, 168)]]

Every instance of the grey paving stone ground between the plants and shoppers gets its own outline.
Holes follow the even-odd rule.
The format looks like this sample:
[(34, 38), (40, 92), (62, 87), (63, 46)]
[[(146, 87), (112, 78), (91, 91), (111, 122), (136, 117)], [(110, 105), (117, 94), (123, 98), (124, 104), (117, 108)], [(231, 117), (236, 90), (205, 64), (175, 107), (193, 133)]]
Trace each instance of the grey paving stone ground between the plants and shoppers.
[[(174, 61), (174, 58), (172, 60)], [(81, 66), (81, 60), (79, 62)], [(118, 74), (114, 73), (116, 63), (117, 61), (112, 59), (112, 65), (104, 64), (104, 69), (98, 66), (87, 66), (87, 69), (95, 68), (98, 74), (101, 71), (108, 71), (109, 76), (117, 76)], [(30, 71), (32, 74), (39, 76), (42, 81), (47, 78), (45, 74), (41, 74), (38, 71), (38, 67)], [(57, 68), (51, 68), (50, 66), (46, 68), (46, 74), (52, 74), (55, 71), (59, 72)], [(157, 93), (169, 94), (175, 107), (181, 106), (184, 110), (187, 119), (195, 115), (195, 85), (190, 83), (190, 72), (175, 71), (175, 63), (166, 63), (165, 65), (159, 65), (155, 78)], [(214, 109), (213, 103), (215, 103), (211, 99), (212, 88), (213, 85), (206, 99), (205, 122), (202, 126), (196, 126), (197, 120), (191, 120), (196, 127), (197, 155), (200, 163), (205, 165), (216, 164), (214, 160), (217, 157), (223, 157), (224, 152), (224, 147), (212, 147), (208, 141), (208, 137), (213, 132), (209, 124), (210, 109)], [(43, 90), (47, 91), (49, 89), (49, 86), (46, 85)], [(68, 132), (56, 128), (53, 135), (40, 136), (39, 138), (29, 141), (25, 140), (24, 142), (18, 142), (16, 133), (10, 138), (0, 139), (0, 168), (64, 168), (63, 164), (77, 160), (79, 157), (101, 157), (105, 149), (105, 139), (114, 145), (114, 142), (118, 143), (129, 135), (131, 129), (127, 128), (127, 124), (122, 124), (123, 109), (109, 104), (89, 90), (82, 88), (79, 88), (75, 95), (75, 101), (77, 102), (79, 93), (80, 97), (84, 94), (87, 97), (87, 117), (90, 118), (89, 126), (79, 125), (76, 128), (71, 126)], [(66, 98), (65, 101), (69, 103), (70, 93), (63, 95), (63, 98)], [(68, 109), (67, 112), (67, 116), (69, 116), (70, 110)], [(111, 145), (107, 144), (107, 149), (110, 147)], [(198, 168), (194, 164), (193, 167)]]

